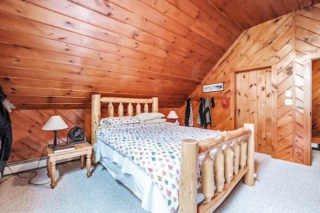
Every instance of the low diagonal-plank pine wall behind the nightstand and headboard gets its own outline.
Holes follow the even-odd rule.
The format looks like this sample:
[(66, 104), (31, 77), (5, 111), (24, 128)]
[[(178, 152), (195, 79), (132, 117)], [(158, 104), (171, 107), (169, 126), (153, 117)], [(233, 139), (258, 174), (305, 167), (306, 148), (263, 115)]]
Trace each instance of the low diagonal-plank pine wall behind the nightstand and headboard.
[[(167, 116), (170, 110), (178, 112), (178, 108), (161, 108), (159, 112)], [(9, 115), (12, 148), (7, 163), (46, 156), (44, 148), (53, 143), (54, 134), (52, 131), (42, 130), (42, 126), (52, 115), (60, 115), (68, 125), (67, 129), (58, 130), (61, 142), (67, 140), (68, 131), (75, 126), (83, 128), (86, 141), (91, 142), (91, 109), (12, 110)], [(106, 116), (107, 108), (102, 107), (101, 117)]]

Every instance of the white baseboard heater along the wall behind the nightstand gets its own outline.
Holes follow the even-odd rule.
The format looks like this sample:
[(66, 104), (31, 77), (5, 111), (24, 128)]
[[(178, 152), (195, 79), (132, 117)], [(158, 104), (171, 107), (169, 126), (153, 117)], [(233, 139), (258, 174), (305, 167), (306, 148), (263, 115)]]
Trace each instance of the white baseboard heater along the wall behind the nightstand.
[[(79, 157), (61, 159), (61, 160), (57, 161), (56, 164), (64, 163), (67, 161), (73, 161), (73, 160), (77, 160), (77, 159), (79, 159)], [(46, 160), (47, 160), (47, 157), (45, 156), (42, 158), (34, 158), (34, 159), (30, 159), (30, 160), (25, 160), (25, 161), (18, 161), (18, 162), (14, 162), (14, 163), (9, 163), (4, 168), (3, 176), (10, 175), (12, 173), (26, 172), (26, 171), (34, 170), (36, 168), (46, 167)]]

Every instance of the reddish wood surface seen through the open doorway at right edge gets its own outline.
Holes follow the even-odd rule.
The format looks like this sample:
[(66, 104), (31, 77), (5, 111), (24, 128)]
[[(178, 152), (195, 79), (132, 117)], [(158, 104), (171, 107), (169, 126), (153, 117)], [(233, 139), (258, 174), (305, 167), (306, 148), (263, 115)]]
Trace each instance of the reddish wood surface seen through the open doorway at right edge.
[(312, 143), (320, 144), (320, 59), (312, 61)]

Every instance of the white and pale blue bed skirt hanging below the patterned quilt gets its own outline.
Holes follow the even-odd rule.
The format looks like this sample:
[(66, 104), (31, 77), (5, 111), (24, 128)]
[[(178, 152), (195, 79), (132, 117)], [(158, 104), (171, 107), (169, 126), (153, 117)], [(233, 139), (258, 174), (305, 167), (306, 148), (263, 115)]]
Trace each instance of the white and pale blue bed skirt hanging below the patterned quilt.
[[(97, 143), (93, 145), (95, 153), (96, 146)], [(100, 147), (100, 155), (101, 165), (115, 180), (120, 181), (141, 200), (141, 206), (145, 211), (151, 213), (168, 212), (159, 188), (140, 167), (106, 144)], [(203, 199), (203, 195), (198, 193), (197, 203)]]

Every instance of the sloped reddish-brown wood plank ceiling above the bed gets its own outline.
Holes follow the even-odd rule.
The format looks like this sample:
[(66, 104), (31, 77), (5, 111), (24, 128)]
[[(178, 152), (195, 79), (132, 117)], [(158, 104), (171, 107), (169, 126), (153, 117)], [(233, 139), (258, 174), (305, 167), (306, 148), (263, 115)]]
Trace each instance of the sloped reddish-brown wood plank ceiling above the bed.
[(0, 85), (18, 109), (180, 107), (243, 30), (319, 1), (1, 0)]

